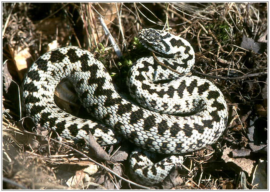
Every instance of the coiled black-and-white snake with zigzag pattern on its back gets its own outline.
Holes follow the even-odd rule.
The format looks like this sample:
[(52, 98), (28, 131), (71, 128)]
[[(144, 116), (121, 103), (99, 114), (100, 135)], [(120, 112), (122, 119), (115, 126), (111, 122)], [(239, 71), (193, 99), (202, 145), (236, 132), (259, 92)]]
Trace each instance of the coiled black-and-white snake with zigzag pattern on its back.
[[(195, 54), (187, 40), (153, 28), (140, 30), (138, 40), (157, 57), (142, 57), (130, 67), (129, 97), (117, 91), (92, 53), (68, 46), (47, 52), (29, 68), (22, 82), (22, 110), (75, 143), (87, 141), (89, 132), (101, 146), (128, 140), (134, 146), (130, 177), (151, 186), (181, 164), (184, 154), (216, 142), (226, 128), (228, 109), (214, 83), (191, 75)], [(56, 105), (54, 92), (64, 79), (73, 84), (89, 119)], [(157, 161), (156, 154), (166, 158)]]

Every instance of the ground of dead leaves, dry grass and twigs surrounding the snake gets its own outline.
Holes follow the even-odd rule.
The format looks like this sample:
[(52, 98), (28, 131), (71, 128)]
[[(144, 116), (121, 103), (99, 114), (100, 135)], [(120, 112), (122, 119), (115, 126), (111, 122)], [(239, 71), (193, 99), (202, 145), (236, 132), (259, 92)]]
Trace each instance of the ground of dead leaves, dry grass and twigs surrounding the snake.
[[(185, 154), (186, 169), (172, 170), (168, 179), (155, 188), (265, 189), (266, 3), (3, 3), (2, 8), (4, 189), (141, 188), (128, 180), (130, 143), (122, 141), (105, 150), (93, 147), (103, 151), (103, 157), (96, 157), (101, 167), (83, 156), (94, 152), (89, 154), (49, 130), (31, 125), (31, 120), (16, 124), (21, 116), (18, 87), (39, 56), (52, 47), (72, 44), (92, 50), (105, 64), (120, 93), (125, 93), (129, 63), (150, 55), (134, 37), (141, 28), (162, 29), (165, 25), (190, 41), (196, 53), (194, 75), (208, 78), (221, 89), (230, 115), (217, 143)], [(118, 44), (121, 58), (113, 52), (99, 23), (100, 16)], [(84, 116), (76, 98), (69, 100), (73, 89), (67, 86), (63, 90), (65, 96), (60, 92), (60, 99), (67, 102), (61, 107)]]

